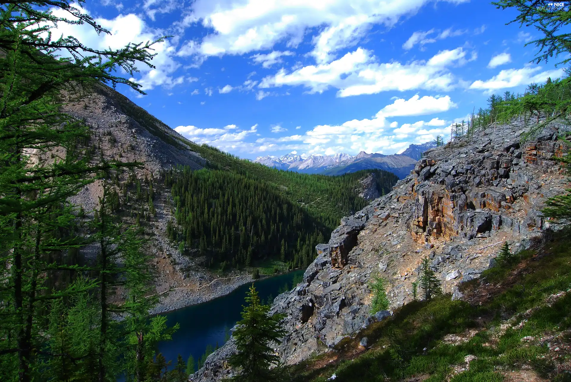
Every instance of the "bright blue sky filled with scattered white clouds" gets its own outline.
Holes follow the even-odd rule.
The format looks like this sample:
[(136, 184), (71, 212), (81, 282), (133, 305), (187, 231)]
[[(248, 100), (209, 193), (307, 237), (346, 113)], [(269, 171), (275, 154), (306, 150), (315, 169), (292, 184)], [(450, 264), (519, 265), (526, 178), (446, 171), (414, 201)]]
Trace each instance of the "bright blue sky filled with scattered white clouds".
[(112, 35), (63, 27), (91, 46), (156, 46), (134, 102), (197, 143), (242, 158), (394, 154), (483, 107), (561, 77), (530, 64), (539, 37), (480, 0), (88, 0)]

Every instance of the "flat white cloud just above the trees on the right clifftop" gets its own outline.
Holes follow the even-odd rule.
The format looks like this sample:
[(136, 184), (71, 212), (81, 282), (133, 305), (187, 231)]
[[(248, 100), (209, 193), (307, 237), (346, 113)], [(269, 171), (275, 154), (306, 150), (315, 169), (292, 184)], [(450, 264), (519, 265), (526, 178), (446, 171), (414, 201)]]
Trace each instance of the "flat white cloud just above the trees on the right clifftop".
[(548, 77), (553, 79), (560, 78), (564, 74), (562, 69), (546, 70), (537, 73), (540, 70), (541, 66), (525, 66), (521, 69), (502, 70), (487, 81), (474, 81), (470, 85), (470, 89), (485, 90), (488, 93), (492, 93), (498, 89), (528, 85), (532, 82), (544, 82)]

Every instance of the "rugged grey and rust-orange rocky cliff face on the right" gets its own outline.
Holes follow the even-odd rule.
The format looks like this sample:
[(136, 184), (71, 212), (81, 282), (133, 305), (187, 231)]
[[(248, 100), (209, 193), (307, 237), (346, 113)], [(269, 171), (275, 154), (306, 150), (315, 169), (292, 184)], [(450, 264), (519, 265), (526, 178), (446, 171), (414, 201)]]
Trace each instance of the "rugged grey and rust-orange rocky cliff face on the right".
[[(369, 316), (371, 276), (388, 284), (391, 309), (412, 300), (420, 262), (429, 258), (445, 292), (493, 264), (504, 241), (527, 246), (547, 228), (546, 198), (568, 187), (557, 158), (564, 127), (553, 124), (520, 143), (525, 129), (498, 126), (464, 136), (425, 153), (393, 191), (341, 219), (303, 283), (274, 300), (272, 312), (287, 315), (288, 335), (276, 347), (282, 361), (297, 363), (326, 352), (380, 317)], [(232, 343), (208, 357), (193, 381), (228, 375), (224, 357)]]

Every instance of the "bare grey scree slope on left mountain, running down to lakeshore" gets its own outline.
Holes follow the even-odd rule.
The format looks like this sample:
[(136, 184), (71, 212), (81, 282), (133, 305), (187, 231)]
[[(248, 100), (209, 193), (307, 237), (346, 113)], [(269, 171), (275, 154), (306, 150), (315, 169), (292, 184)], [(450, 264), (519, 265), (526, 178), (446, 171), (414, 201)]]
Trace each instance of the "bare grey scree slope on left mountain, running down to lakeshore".
[[(70, 95), (67, 101), (64, 111), (84, 120), (90, 127), (90, 144), (96, 147), (93, 155), (105, 160), (143, 163), (142, 168), (135, 169), (139, 179), (151, 176), (158, 179), (162, 170), (175, 164), (198, 170), (207, 163), (198, 154), (196, 144), (107, 86), (96, 86), (81, 96)], [(120, 182), (126, 177), (127, 173)], [(162, 297), (155, 312), (207, 301), (251, 280), (249, 275), (237, 272), (219, 279), (214, 272), (196, 266), (192, 259), (180, 254), (166, 235), (166, 225), (171, 219), (170, 190), (164, 190), (160, 182), (155, 182), (155, 191), (156, 217), (147, 222), (146, 228), (150, 234), (146, 250), (154, 255), (156, 293)], [(96, 181), (84, 187), (71, 201), (82, 206), (89, 219), (102, 195), (102, 182)], [(95, 253), (96, 248), (90, 246), (81, 250), (86, 258)]]

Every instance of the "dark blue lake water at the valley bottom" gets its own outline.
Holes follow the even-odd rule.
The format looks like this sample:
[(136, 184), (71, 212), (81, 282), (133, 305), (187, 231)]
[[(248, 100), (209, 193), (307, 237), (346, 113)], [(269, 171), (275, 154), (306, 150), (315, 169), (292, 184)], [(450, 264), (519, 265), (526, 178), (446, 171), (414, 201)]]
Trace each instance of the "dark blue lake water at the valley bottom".
[[(301, 282), (302, 276), (303, 270), (293, 271), (258, 280), (255, 287), (262, 302), (267, 304), (269, 300)], [(179, 323), (180, 329), (171, 341), (159, 343), (158, 352), (163, 353), (167, 360), (172, 360), (173, 364), (180, 354), (186, 363), (189, 355), (198, 361), (209, 345), (213, 348), (216, 345), (222, 346), (230, 328), (242, 319), (240, 312), (243, 310), (242, 305), (246, 304), (244, 297), (250, 286), (251, 284), (246, 284), (218, 299), (165, 313), (168, 326)]]

